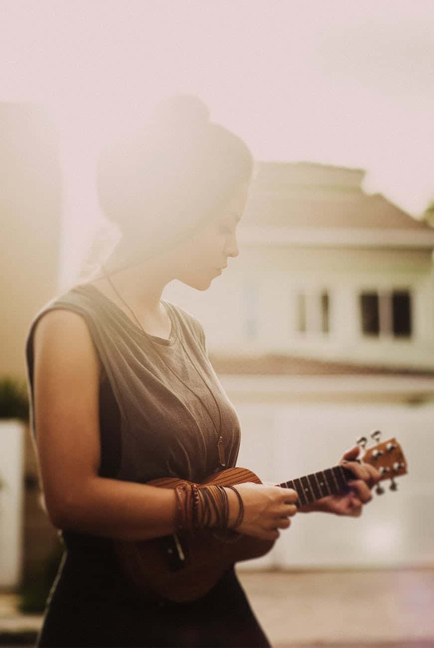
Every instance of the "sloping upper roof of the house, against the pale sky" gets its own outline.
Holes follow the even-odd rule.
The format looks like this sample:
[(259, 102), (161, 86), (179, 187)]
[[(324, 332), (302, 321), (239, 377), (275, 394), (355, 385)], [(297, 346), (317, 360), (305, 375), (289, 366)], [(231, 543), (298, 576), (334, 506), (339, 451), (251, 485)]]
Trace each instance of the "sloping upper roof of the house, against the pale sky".
[(393, 229), (426, 231), (382, 194), (366, 194), (361, 169), (306, 162), (257, 163), (243, 216), (246, 226), (297, 229)]

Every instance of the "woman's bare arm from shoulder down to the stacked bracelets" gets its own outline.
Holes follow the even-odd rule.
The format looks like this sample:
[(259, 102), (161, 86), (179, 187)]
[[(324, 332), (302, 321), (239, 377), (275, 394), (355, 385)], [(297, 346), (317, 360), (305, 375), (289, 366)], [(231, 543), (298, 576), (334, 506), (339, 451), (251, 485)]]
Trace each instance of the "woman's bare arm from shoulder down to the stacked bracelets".
[(34, 421), (49, 517), (58, 528), (112, 538), (172, 533), (174, 491), (98, 476), (99, 372), (84, 319), (45, 314), (34, 334)]

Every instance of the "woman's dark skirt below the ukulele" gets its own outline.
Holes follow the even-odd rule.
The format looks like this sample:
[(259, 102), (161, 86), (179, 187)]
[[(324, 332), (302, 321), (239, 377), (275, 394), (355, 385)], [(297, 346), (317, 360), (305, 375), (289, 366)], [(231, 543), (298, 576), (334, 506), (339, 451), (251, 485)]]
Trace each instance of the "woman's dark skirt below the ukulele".
[(47, 601), (42, 647), (269, 647), (233, 568), (205, 596), (171, 603), (144, 596), (109, 544), (68, 548)]

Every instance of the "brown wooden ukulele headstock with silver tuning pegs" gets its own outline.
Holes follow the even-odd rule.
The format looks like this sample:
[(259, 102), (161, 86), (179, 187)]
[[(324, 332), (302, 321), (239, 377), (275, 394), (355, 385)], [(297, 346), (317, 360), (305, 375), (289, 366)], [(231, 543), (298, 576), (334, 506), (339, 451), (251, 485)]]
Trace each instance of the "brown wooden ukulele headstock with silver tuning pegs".
[[(361, 461), (371, 464), (371, 466), (374, 466), (374, 468), (380, 472), (380, 481), (390, 479), (390, 489), (391, 491), (396, 491), (398, 487), (394, 478), (407, 474), (407, 461), (405, 461), (404, 452), (402, 452), (401, 446), (394, 437), (379, 443), (381, 434), (380, 430), (372, 432), (371, 438), (377, 443), (367, 450), (365, 450), (367, 438), (360, 437), (360, 439), (357, 440), (357, 445), (365, 450), (363, 457), (361, 457)], [(378, 494), (384, 492), (379, 484), (376, 487), (376, 492)]]

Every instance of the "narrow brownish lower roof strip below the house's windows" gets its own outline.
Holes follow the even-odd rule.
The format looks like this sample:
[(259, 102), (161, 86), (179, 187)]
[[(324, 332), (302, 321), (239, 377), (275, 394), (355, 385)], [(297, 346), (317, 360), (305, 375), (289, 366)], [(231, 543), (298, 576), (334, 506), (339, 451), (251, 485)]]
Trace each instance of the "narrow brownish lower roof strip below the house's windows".
[(211, 354), (216, 373), (229, 375), (284, 376), (420, 376), (434, 378), (434, 369), (361, 365), (350, 362), (319, 360), (297, 356), (268, 354), (258, 357)]

